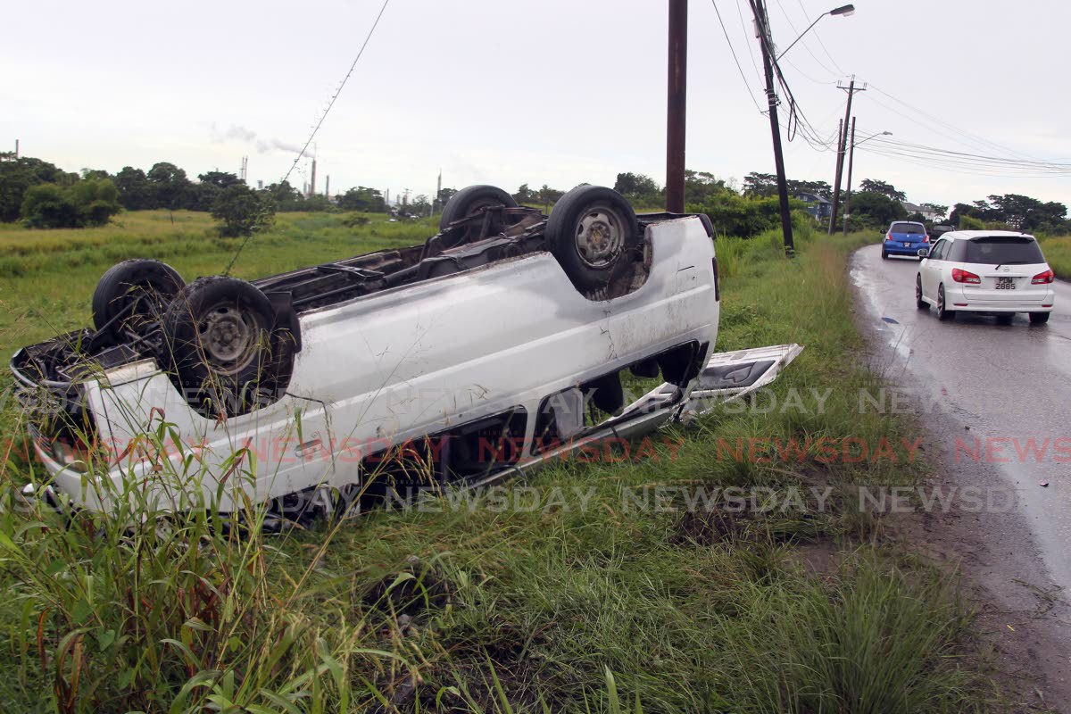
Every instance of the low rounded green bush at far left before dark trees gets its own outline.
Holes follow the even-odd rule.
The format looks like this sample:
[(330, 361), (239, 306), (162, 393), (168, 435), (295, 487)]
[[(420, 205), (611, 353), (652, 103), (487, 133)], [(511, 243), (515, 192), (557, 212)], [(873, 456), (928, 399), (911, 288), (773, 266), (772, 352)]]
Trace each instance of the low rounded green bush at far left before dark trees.
[(82, 228), (103, 226), (121, 210), (119, 191), (109, 179), (84, 179), (70, 186), (30, 186), (20, 214), (27, 228)]

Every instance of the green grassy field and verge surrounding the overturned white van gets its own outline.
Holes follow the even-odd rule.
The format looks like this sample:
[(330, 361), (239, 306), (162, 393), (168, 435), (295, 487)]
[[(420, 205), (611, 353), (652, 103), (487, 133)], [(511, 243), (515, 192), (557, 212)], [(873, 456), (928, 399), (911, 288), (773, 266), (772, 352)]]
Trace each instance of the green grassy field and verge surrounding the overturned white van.
[[(233, 248), (200, 216), (123, 223), (0, 231), (5, 350), (85, 323), (116, 259), (165, 258), (190, 279), (222, 269)], [(282, 216), (237, 273), (427, 232)], [(223, 533), (199, 514), (168, 528), (91, 515), (63, 528), (4, 507), (0, 711), (987, 711), (996, 693), (970, 653), (954, 578), (854, 507), (861, 485), (925, 477), (902, 441), (914, 425), (858, 409), (858, 390), (876, 382), (855, 360), (845, 261), (863, 240), (802, 231), (793, 261), (775, 236), (720, 240), (719, 348), (805, 345), (772, 392), (800, 406), (724, 408), (659, 435), (643, 458), (618, 447), (502, 497), (278, 537)], [(5, 417), (11, 428), (19, 420)], [(893, 458), (770, 445), (823, 437), (884, 439)], [(730, 455), (738, 443), (758, 443), (757, 458)], [(10, 454), (5, 486), (27, 469)], [(654, 505), (632, 498), (655, 487)], [(768, 496), (738, 507), (722, 492), (695, 507), (695, 487)], [(811, 488), (828, 488), (830, 507), (787, 498)]]

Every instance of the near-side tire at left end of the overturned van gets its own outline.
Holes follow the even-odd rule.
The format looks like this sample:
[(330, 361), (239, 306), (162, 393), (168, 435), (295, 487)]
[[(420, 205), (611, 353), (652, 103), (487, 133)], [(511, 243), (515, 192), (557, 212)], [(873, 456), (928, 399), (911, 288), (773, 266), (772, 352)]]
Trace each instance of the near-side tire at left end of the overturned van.
[(274, 401), (289, 382), (293, 340), (275, 329), (268, 297), (244, 280), (194, 280), (171, 302), (163, 329), (163, 361), (202, 413), (245, 413)]

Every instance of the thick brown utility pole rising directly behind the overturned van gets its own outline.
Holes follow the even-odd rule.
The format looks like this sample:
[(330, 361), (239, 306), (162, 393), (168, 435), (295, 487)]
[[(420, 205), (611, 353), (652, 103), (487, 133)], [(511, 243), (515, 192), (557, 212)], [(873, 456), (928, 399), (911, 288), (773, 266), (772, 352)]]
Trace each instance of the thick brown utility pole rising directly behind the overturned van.
[(684, 126), (688, 87), (688, 0), (669, 0), (666, 85), (666, 211), (684, 212)]

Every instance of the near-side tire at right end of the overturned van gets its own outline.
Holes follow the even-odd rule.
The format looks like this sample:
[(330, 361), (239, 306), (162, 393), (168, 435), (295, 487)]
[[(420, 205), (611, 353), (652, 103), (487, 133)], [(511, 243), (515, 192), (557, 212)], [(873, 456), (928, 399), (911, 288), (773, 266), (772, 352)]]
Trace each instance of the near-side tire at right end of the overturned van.
[(555, 203), (545, 234), (550, 253), (582, 292), (605, 288), (639, 256), (636, 214), (613, 188), (570, 191)]

